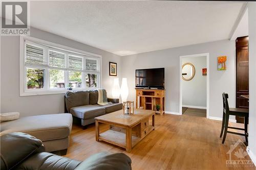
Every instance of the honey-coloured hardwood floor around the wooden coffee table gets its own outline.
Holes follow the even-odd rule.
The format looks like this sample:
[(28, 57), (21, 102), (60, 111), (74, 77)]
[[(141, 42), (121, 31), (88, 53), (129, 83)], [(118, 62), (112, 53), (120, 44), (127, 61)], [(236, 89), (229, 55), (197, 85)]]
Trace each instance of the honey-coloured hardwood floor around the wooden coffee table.
[[(126, 153), (124, 149), (115, 145), (95, 141), (94, 125), (86, 130), (74, 125), (66, 157), (84, 160), (102, 151), (122, 152), (131, 157), (133, 170), (255, 169), (254, 165), (253, 167), (226, 166), (226, 160), (229, 160), (229, 155), (226, 153), (230, 145), (236, 143), (238, 139), (242, 141), (245, 139), (242, 136), (228, 134), (225, 143), (222, 144), (222, 139), (219, 137), (221, 121), (198, 116), (164, 114), (155, 116), (155, 126), (155, 131), (141, 140), (131, 153)], [(100, 128), (105, 130), (108, 127), (103, 125)], [(250, 160), (248, 155), (245, 158)], [(240, 159), (232, 153), (232, 160)]]

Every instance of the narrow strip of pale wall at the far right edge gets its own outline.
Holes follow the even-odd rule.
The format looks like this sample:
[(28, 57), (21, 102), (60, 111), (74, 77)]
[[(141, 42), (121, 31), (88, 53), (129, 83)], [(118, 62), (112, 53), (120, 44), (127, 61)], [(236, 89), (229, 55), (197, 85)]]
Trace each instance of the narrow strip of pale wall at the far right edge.
[(249, 20), (249, 155), (256, 164), (256, 3), (248, 3)]

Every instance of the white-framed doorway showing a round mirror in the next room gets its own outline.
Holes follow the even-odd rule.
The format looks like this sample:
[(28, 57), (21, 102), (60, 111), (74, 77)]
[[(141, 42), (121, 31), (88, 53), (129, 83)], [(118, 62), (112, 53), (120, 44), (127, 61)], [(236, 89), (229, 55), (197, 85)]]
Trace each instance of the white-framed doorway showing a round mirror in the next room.
[(180, 56), (180, 114), (209, 117), (209, 53)]

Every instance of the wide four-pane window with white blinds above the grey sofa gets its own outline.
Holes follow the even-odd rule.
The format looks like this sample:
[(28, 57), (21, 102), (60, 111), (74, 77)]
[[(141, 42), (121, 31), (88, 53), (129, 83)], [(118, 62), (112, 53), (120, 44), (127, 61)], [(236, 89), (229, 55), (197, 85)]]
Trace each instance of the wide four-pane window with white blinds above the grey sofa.
[(20, 95), (100, 87), (101, 56), (20, 36)]

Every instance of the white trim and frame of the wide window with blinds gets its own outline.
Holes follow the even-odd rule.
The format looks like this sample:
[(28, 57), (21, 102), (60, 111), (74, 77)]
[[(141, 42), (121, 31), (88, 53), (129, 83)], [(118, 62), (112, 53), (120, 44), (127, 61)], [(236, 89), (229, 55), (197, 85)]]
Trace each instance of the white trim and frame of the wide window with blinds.
[[(67, 87), (65, 87), (65, 89), (63, 89), (63, 88), (62, 89), (47, 88), (47, 90), (46, 89), (36, 89), (36, 90), (30, 89), (30, 90), (27, 90), (26, 89), (26, 87), (27, 87), (26, 82), (27, 81), (26, 81), (25, 68), (26, 67), (31, 67), (31, 66), (26, 66), (25, 65), (25, 40), (31, 41), (31, 42), (34, 42), (34, 43), (39, 43), (39, 44), (42, 44), (42, 45), (53, 46), (55, 48), (59, 48), (59, 49), (57, 49), (59, 51), (65, 50), (66, 53), (70, 53), (70, 54), (76, 55), (76, 56), (79, 56), (79, 55), (84, 56), (85, 55), (85, 56), (88, 56), (88, 58), (94, 58), (94, 59), (98, 58), (98, 60), (99, 60), (99, 71), (86, 70), (86, 73), (92, 72), (92, 73), (95, 73), (97, 75), (100, 75), (99, 79), (98, 79), (98, 82), (97, 82), (98, 83), (97, 88), (102, 88), (102, 86), (101, 86), (101, 82), (102, 82), (102, 56), (97, 55), (97, 54), (93, 54), (93, 53), (89, 53), (89, 52), (86, 52), (86, 51), (78, 50), (76, 48), (72, 48), (72, 47), (69, 47), (69, 46), (60, 45), (60, 44), (57, 44), (57, 43), (54, 43), (54, 42), (49, 42), (49, 41), (41, 40), (41, 39), (38, 39), (38, 38), (30, 37), (30, 36), (20, 35), (19, 36), (19, 95), (20, 96), (44, 95), (44, 94), (61, 94), (61, 93), (66, 93), (67, 91), (97, 89), (97, 88), (94, 88), (94, 87), (87, 88), (86, 83), (83, 83), (82, 88), (73, 88), (72, 90), (67, 90)], [(67, 60), (68, 60), (68, 57), (67, 57)], [(84, 62), (82, 64), (84, 64)], [(38, 66), (36, 66), (36, 67), (38, 68)], [(41, 66), (41, 68), (46, 68), (48, 70), (48, 68), (52, 68), (52, 67)], [(58, 69), (58, 68), (56, 68), (56, 69)], [(71, 69), (67, 69), (65, 77), (68, 76), (68, 71), (69, 70), (71, 70)], [(86, 73), (82, 72), (82, 81), (83, 82), (86, 82), (86, 80), (84, 80), (84, 77), (85, 77)], [(45, 74), (47, 74), (47, 71), (46, 71)], [(48, 77), (49, 76), (45, 77), (45, 86), (48, 86), (48, 84), (49, 84), (49, 81), (47, 80)], [(68, 80), (68, 79), (66, 79), (66, 80)], [(68, 84), (68, 82), (65, 82), (65, 83)]]

